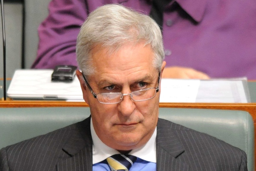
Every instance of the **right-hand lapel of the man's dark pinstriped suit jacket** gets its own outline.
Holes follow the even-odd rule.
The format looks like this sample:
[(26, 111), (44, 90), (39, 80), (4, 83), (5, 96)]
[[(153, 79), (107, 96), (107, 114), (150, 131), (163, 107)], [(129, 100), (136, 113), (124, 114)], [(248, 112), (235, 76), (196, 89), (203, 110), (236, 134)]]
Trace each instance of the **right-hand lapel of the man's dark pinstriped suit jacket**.
[(184, 147), (170, 122), (159, 119), (157, 123), (157, 171), (185, 171), (188, 165), (180, 160)]

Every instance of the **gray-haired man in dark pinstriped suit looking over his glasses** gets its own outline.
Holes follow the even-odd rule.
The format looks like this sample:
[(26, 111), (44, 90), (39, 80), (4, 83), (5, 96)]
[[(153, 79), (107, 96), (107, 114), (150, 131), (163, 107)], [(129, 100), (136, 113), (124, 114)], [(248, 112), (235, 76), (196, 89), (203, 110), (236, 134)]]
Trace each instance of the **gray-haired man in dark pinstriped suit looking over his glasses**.
[(0, 170), (110, 171), (115, 154), (129, 171), (247, 170), (244, 151), (158, 119), (163, 59), (161, 30), (150, 17), (99, 7), (77, 40), (76, 74), (91, 116), (1, 149)]

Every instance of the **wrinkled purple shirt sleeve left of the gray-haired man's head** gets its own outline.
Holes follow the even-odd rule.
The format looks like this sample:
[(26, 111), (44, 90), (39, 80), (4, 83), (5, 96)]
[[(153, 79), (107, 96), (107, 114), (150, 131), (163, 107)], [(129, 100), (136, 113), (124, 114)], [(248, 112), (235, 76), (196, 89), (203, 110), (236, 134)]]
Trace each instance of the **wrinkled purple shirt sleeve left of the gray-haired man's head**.
[(75, 65), (80, 26), (88, 16), (86, 0), (52, 0), (48, 17), (39, 25), (37, 58), (31, 68)]

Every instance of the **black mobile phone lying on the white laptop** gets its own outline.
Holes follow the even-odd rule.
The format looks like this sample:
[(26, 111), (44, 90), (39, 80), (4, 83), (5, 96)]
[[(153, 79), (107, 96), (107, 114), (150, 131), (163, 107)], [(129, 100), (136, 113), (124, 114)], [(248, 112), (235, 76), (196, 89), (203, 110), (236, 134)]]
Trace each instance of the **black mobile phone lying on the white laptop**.
[(58, 65), (52, 73), (52, 81), (72, 82), (75, 77), (76, 66), (73, 65)]

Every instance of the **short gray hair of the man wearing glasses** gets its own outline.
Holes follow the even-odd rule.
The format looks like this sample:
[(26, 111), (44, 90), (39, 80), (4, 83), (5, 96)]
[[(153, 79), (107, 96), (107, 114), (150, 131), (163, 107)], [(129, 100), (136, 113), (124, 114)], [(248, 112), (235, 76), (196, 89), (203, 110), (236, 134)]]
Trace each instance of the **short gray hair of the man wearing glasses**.
[(76, 55), (80, 70), (86, 76), (95, 72), (90, 53), (95, 46), (100, 45), (113, 53), (127, 42), (149, 44), (154, 52), (152, 65), (161, 70), (165, 55), (157, 23), (149, 16), (119, 4), (98, 7), (90, 13), (78, 34)]

